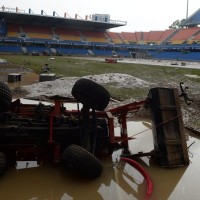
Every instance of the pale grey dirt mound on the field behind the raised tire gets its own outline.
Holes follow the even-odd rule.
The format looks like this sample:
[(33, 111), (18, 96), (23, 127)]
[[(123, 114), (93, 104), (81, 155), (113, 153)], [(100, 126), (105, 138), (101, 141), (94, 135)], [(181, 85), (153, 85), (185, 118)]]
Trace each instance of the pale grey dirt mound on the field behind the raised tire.
[[(128, 74), (100, 74), (84, 76), (82, 78), (91, 79), (99, 84), (115, 83), (116, 87), (149, 87), (153, 85), (147, 81), (136, 78)], [(42, 96), (65, 96), (71, 97), (71, 89), (74, 83), (78, 80), (78, 77), (68, 77), (56, 79), (55, 81), (39, 82), (32, 85), (21, 87), (21, 89), (27, 92), (27, 98), (42, 98)]]

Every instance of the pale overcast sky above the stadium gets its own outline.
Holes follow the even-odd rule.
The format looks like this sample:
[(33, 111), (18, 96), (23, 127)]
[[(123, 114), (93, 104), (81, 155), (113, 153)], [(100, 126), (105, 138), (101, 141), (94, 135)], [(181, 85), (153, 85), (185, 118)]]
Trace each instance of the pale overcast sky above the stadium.
[[(127, 25), (111, 31), (151, 31), (165, 30), (177, 19), (186, 18), (187, 0), (1, 0), (0, 6), (24, 10), (29, 8), (47, 15), (55, 11), (63, 17), (67, 13), (72, 18), (78, 14), (85, 18), (90, 14), (109, 14), (112, 20), (127, 21)], [(189, 16), (200, 8), (200, 0), (189, 0)]]

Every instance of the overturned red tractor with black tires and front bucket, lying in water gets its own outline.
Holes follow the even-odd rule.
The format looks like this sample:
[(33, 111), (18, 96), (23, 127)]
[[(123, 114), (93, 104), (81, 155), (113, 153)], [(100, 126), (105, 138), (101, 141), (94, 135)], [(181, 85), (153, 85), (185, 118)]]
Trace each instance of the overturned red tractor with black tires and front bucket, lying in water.
[[(76, 110), (68, 110), (67, 98), (60, 96), (51, 97), (53, 105), (22, 104), (20, 99), (12, 101), (10, 89), (0, 83), (0, 174), (18, 160), (37, 160), (63, 163), (96, 178), (103, 170), (98, 157), (112, 155), (116, 146), (125, 157), (137, 156), (129, 151), (127, 114), (144, 106), (150, 108), (154, 126), (154, 150), (149, 155), (161, 166), (189, 163), (177, 89), (153, 88), (145, 100), (106, 109), (108, 91), (81, 78), (72, 96)], [(120, 136), (115, 135), (115, 118), (121, 123)]]

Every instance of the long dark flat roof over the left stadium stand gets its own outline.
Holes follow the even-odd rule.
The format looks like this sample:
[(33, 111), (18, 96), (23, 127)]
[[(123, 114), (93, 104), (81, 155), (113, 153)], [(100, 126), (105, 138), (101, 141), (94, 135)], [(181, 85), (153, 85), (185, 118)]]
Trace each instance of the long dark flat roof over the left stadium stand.
[(81, 28), (81, 29), (110, 29), (126, 25), (125, 22), (97, 22), (84, 19), (73, 19), (59, 16), (38, 15), (18, 12), (0, 11), (0, 20), (5, 20), (7, 23), (20, 25), (42, 25), (52, 27), (66, 27), (66, 28)]

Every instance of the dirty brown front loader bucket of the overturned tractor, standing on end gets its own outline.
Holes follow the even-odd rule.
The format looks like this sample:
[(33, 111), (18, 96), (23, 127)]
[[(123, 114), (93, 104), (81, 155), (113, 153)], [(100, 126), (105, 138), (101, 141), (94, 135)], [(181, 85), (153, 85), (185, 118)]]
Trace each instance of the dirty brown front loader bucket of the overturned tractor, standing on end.
[(185, 128), (176, 88), (149, 91), (154, 150), (161, 166), (189, 164)]

